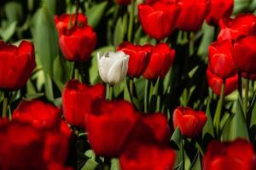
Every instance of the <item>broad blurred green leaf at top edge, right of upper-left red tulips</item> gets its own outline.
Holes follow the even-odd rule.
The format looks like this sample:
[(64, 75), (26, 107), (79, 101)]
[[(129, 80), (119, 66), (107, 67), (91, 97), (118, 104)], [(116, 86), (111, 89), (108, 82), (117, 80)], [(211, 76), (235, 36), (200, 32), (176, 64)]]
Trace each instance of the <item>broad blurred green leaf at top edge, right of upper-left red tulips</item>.
[(88, 18), (88, 24), (93, 28), (98, 26), (99, 22), (102, 20), (102, 16), (107, 8), (108, 1), (104, 1), (102, 3), (98, 3), (93, 5), (89, 10), (87, 10), (86, 16)]

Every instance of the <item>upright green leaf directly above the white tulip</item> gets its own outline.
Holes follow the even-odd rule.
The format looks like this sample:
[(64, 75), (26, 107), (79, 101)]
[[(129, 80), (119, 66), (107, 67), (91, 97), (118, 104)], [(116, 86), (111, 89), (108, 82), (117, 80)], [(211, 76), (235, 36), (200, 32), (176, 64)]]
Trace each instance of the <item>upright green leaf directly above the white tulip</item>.
[(125, 34), (124, 34), (124, 26), (123, 26), (122, 18), (119, 18), (113, 32), (113, 45), (115, 47), (119, 46), (119, 44), (123, 42), (124, 37), (125, 37)]

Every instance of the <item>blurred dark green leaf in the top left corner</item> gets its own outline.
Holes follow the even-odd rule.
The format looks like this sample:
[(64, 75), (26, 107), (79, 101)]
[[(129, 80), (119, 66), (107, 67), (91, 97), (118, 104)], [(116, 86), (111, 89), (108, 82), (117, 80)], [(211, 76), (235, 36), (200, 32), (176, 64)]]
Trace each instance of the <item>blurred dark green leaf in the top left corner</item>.
[(18, 2), (6, 3), (4, 6), (4, 11), (9, 22), (20, 21), (22, 19), (22, 6)]

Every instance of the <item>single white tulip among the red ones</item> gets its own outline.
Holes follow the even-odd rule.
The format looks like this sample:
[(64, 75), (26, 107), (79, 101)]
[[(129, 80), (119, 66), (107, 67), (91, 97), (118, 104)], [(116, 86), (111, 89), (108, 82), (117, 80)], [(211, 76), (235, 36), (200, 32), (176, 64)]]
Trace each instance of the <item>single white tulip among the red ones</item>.
[(123, 51), (97, 53), (98, 69), (103, 82), (111, 85), (122, 82), (128, 71), (129, 55)]

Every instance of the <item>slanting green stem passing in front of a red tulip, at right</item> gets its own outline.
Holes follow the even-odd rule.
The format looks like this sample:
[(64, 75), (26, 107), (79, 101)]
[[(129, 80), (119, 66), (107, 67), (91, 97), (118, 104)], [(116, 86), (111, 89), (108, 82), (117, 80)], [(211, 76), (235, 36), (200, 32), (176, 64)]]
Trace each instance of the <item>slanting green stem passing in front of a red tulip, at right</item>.
[(224, 92), (225, 92), (225, 79), (223, 80), (223, 83), (221, 86), (220, 96), (218, 99), (218, 105), (217, 105), (217, 109), (215, 111), (215, 116), (213, 119), (213, 125), (216, 128), (217, 135), (218, 135), (218, 131), (219, 131), (219, 122), (220, 122), (220, 116), (221, 116), (221, 111), (222, 111), (222, 105), (223, 105), (223, 101), (224, 101)]

